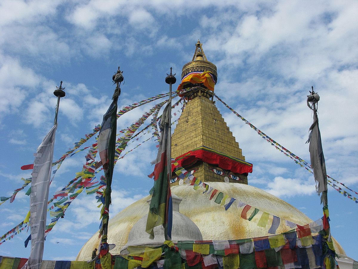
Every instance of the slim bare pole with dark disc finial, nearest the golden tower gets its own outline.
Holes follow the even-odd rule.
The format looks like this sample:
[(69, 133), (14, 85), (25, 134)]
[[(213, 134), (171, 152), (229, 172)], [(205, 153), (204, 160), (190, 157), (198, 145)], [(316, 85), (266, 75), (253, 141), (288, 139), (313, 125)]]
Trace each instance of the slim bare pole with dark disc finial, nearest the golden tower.
[[(170, 190), (170, 178), (171, 178), (171, 85), (172, 84), (175, 84), (176, 82), (176, 78), (175, 78), (175, 74), (172, 74), (172, 68), (170, 67), (170, 74), (166, 74), (168, 75), (166, 78), (165, 78), (165, 82), (167, 84), (169, 84), (169, 106), (170, 106), (170, 109), (169, 109), (169, 127), (168, 127), (168, 148), (167, 148), (167, 170), (168, 170), (168, 195), (166, 196), (166, 205), (168, 206), (169, 204), (169, 190)], [(167, 219), (166, 219), (166, 224), (164, 225), (164, 237), (165, 237), (165, 240), (171, 240), (168, 239), (168, 215), (165, 216)]]

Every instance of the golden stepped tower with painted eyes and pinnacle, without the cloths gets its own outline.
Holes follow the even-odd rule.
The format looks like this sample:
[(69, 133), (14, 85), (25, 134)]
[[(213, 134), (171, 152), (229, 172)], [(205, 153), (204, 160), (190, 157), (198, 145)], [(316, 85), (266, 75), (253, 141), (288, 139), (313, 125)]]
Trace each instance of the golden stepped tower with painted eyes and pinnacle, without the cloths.
[[(216, 70), (216, 66), (207, 60), (202, 44), (198, 41), (193, 60), (183, 66), (182, 79), (192, 72), (207, 71), (213, 75), (216, 81)], [(171, 138), (171, 156), (176, 158), (190, 150), (205, 146), (245, 161), (245, 156), (242, 155), (239, 143), (236, 142), (235, 137), (213, 102), (213, 91), (208, 90), (201, 83), (188, 83), (184, 88), (191, 88), (192, 90), (185, 93), (185, 99), (188, 102)], [(213, 173), (211, 169), (213, 166), (222, 175)], [(199, 161), (194, 166), (184, 168), (188, 171), (195, 169), (195, 177), (204, 182), (224, 181), (247, 184), (247, 173), (230, 173), (230, 171), (219, 169), (219, 167), (206, 162)], [(172, 178), (175, 178), (175, 174), (172, 175)], [(236, 178), (236, 180), (232, 178)], [(179, 183), (179, 180), (171, 181), (172, 186), (182, 183)]]

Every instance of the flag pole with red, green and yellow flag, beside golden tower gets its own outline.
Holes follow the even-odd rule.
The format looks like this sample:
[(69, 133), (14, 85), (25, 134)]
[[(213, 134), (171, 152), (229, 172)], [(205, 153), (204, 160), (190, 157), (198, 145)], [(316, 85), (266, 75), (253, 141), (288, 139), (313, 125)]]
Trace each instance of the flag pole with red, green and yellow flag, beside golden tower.
[(149, 213), (145, 231), (150, 234), (149, 238), (154, 239), (154, 227), (163, 225), (165, 240), (171, 240), (171, 228), (173, 224), (173, 204), (170, 192), (171, 177), (171, 85), (176, 82), (175, 75), (170, 74), (165, 78), (169, 84), (169, 101), (166, 104), (161, 116), (160, 142), (158, 154), (151, 164), (155, 164), (154, 187), (152, 199), (150, 200)]

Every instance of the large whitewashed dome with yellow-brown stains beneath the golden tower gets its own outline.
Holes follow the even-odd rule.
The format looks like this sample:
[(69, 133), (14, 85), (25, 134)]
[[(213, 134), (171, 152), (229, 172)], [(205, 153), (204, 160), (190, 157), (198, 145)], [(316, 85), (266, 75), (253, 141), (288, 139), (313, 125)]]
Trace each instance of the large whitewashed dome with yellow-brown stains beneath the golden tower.
[[(229, 197), (239, 198), (243, 203), (250, 204), (252, 208), (260, 209), (263, 212), (280, 217), (282, 220), (288, 220), (298, 225), (312, 222), (309, 217), (297, 208), (256, 187), (223, 182), (210, 182), (209, 185), (220, 192), (228, 194)], [(203, 194), (203, 188), (194, 190), (193, 186), (184, 184), (171, 187), (171, 192), (183, 199), (180, 203), (180, 213), (190, 218), (198, 226), (203, 240), (236, 240), (269, 235), (267, 231), (272, 223), (272, 216), (264, 228), (256, 224), (261, 217), (261, 213), (258, 213), (252, 221), (245, 220), (240, 217), (242, 208), (238, 208), (233, 204), (225, 211), (222, 206), (214, 203), (213, 200), (209, 200), (210, 195)], [(146, 201), (149, 198), (150, 196), (148, 195), (138, 200), (110, 220), (108, 242), (116, 244), (116, 247), (110, 251), (112, 254), (120, 253), (121, 248), (127, 243), (131, 228), (141, 217), (148, 213), (149, 205)], [(251, 211), (247, 214), (250, 215)], [(281, 221), (276, 233), (286, 232), (290, 229), (285, 225), (284, 221)], [(145, 233), (145, 231), (143, 232)], [(148, 244), (150, 244), (150, 241), (148, 236)], [(76, 260), (90, 259), (93, 249), (98, 247), (99, 243), (100, 239), (98, 239), (97, 232), (84, 244)], [(342, 246), (335, 239), (333, 239), (333, 245), (338, 254), (345, 255)]]

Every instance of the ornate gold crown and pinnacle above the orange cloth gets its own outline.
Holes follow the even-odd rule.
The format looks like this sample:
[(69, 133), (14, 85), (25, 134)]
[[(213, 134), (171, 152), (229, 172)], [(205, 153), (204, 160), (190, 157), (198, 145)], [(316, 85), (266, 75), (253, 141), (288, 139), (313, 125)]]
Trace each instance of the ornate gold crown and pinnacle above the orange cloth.
[(200, 43), (200, 41), (198, 40), (197, 44), (195, 45), (193, 60), (191, 62), (186, 63), (183, 66), (182, 79), (185, 75), (188, 75), (191, 72), (209, 71), (214, 75), (215, 80), (217, 80), (218, 73), (217, 73), (216, 65), (208, 61), (208, 59), (205, 56), (202, 45), (203, 44)]

